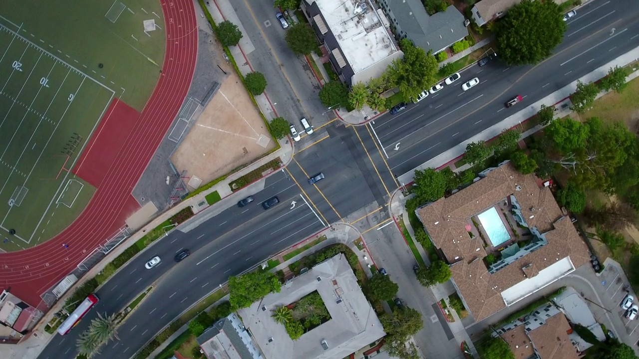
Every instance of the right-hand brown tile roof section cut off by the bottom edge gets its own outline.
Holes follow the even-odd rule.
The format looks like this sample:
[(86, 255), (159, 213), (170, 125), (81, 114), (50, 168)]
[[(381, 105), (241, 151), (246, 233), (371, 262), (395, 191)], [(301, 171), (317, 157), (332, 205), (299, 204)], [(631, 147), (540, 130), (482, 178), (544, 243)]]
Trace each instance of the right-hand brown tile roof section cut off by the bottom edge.
[(546, 319), (546, 324), (528, 333), (528, 337), (541, 359), (577, 359), (579, 356), (568, 337), (569, 330), (571, 328), (566, 317), (558, 313)]

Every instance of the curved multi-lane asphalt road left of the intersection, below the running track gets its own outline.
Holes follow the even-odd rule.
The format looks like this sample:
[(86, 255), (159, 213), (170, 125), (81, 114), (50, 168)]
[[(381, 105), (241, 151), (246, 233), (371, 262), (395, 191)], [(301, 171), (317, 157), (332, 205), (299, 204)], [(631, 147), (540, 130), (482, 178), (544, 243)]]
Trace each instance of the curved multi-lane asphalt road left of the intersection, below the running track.
[[(261, 202), (273, 195), (281, 202), (263, 210)], [(173, 231), (121, 268), (97, 291), (100, 302), (95, 309), (70, 333), (56, 335), (39, 358), (74, 358), (75, 341), (97, 312), (118, 312), (153, 285), (153, 291), (119, 327), (120, 340), (109, 343), (96, 358), (133, 355), (174, 317), (226, 282), (230, 275), (262, 263), (325, 227), (295, 183), (282, 172), (267, 178), (266, 187), (254, 198), (248, 206), (231, 206), (188, 233)], [(292, 201), (296, 201), (293, 209)], [(191, 255), (175, 263), (173, 256), (182, 248), (189, 248)], [(144, 263), (153, 256), (160, 256), (162, 262), (146, 270)]]

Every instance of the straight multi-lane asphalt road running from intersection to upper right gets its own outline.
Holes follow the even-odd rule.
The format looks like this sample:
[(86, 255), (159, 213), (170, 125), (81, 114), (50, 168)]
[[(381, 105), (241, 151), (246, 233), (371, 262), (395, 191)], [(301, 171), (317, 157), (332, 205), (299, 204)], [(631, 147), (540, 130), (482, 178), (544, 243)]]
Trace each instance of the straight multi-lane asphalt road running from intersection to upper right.
[[(453, 84), (371, 126), (399, 176), (637, 46), (636, 2), (595, 0), (569, 20), (564, 42), (539, 65), (508, 67), (497, 60), (470, 66)], [(480, 83), (462, 91), (461, 84), (474, 77)], [(523, 102), (506, 109), (504, 103), (516, 95)]]

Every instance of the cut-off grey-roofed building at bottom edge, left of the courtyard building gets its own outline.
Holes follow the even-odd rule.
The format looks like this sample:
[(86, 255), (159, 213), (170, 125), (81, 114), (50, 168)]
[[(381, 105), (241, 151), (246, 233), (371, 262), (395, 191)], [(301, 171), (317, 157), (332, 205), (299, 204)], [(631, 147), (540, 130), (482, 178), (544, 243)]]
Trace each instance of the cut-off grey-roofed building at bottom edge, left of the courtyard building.
[(197, 337), (197, 344), (209, 359), (264, 358), (235, 313), (215, 322)]

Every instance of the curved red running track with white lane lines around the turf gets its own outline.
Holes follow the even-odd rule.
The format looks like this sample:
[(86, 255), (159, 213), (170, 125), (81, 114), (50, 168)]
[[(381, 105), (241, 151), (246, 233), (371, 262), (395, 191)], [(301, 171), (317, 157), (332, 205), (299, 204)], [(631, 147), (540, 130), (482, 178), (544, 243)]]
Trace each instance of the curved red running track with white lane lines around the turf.
[[(114, 163), (86, 209), (62, 233), (33, 248), (0, 254), (0, 287), (40, 305), (40, 294), (124, 225), (131, 191), (169, 130), (189, 91), (196, 66), (197, 24), (192, 0), (161, 1), (166, 26), (162, 74)], [(65, 249), (62, 243), (69, 247)]]

